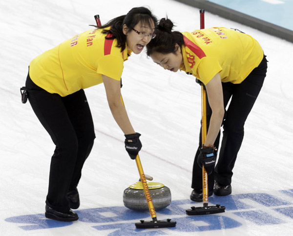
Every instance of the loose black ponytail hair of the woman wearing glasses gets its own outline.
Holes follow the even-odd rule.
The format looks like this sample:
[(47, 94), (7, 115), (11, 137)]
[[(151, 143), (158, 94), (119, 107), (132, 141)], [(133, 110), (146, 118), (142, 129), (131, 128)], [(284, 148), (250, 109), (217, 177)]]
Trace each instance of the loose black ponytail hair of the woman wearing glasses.
[[(117, 38), (117, 47), (121, 48), (121, 52), (125, 50), (126, 47), (126, 35), (123, 33), (123, 25), (126, 24), (128, 32), (130, 32), (139, 22), (142, 22), (148, 26), (152, 26), (154, 23), (157, 26), (157, 18), (152, 15), (151, 11), (146, 7), (134, 7), (127, 15), (123, 15), (114, 19), (111, 19), (105, 25), (95, 26), (98, 29), (104, 29), (103, 34), (112, 34), (110, 37), (105, 37), (106, 39)], [(109, 30), (105, 28), (111, 27)]]

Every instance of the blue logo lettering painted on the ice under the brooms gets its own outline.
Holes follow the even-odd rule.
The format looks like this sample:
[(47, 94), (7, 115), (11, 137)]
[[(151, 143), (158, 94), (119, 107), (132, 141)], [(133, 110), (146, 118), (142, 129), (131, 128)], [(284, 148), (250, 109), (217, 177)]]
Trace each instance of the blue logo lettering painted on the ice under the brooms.
[[(280, 192), (293, 197), (293, 190)], [(93, 227), (98, 231), (115, 230), (109, 233), (108, 236), (136, 234), (140, 236), (157, 236), (167, 235), (167, 232), (170, 232), (170, 230), (179, 233), (231, 229), (242, 225), (235, 219), (236, 217), (233, 218), (233, 214), (237, 217), (252, 221), (257, 225), (287, 223), (284, 218), (280, 219), (272, 216), (270, 214), (272, 210), (278, 214), (293, 218), (292, 202), (280, 200), (269, 194), (240, 194), (226, 197), (210, 197), (209, 205), (215, 204), (226, 206), (226, 212), (230, 212), (229, 217), (225, 213), (188, 216), (185, 210), (195, 205), (195, 202), (190, 200), (174, 200), (167, 208), (158, 210), (157, 213), (160, 213), (158, 219), (172, 218), (172, 220), (177, 221), (176, 227), (153, 229), (152, 231), (136, 229), (134, 224), (134, 222), (139, 222), (140, 219), (146, 218), (146, 220), (150, 220), (148, 211), (132, 211), (126, 207), (103, 207), (76, 212), (79, 215), (79, 220), (88, 223), (89, 227)], [(258, 207), (255, 206), (261, 206), (260, 209), (268, 209), (268, 211), (257, 210)], [(44, 218), (44, 214), (11, 217), (6, 218), (5, 221), (26, 224), (19, 226), (26, 231), (64, 227), (73, 224), (73, 222), (46, 219)]]

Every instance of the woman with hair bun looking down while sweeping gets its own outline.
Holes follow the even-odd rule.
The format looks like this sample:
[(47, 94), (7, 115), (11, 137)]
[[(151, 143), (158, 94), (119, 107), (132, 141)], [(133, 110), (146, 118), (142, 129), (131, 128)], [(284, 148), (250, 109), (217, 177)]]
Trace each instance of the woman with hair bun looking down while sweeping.
[[(147, 55), (165, 70), (192, 74), (207, 91), (208, 133), (202, 144), (200, 131), (190, 199), (203, 200), (202, 164), (209, 174), (209, 196), (226, 196), (232, 192), (232, 169), (245, 121), (266, 77), (266, 56), (253, 37), (238, 30), (212, 27), (180, 33), (172, 28), (170, 19), (160, 20), (156, 38), (146, 46)], [(215, 166), (221, 126), (223, 139)]]

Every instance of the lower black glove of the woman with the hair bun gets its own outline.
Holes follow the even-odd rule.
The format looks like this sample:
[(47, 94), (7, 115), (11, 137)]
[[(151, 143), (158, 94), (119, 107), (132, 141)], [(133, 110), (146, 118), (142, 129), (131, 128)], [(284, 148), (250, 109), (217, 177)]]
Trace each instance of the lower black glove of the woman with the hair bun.
[(200, 154), (197, 157), (197, 163), (201, 168), (204, 165), (208, 175), (210, 175), (215, 167), (217, 149), (215, 147), (201, 147), (199, 151)]

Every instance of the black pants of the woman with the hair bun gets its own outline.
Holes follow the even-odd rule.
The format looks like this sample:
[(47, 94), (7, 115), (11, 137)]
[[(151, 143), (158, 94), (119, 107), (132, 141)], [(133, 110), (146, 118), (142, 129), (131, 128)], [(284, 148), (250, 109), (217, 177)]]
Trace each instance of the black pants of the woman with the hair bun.
[[(267, 73), (267, 60), (264, 56), (258, 67), (247, 76), (240, 84), (222, 83), (224, 107), (226, 108), (231, 98), (230, 105), (225, 110), (223, 121), (223, 139), (221, 149), (218, 151), (218, 163), (215, 170), (209, 175), (209, 191), (213, 189), (214, 181), (224, 185), (231, 183), (237, 153), (242, 144), (244, 136), (244, 123), (253, 107), (253, 104), (261, 90)], [(211, 109), (207, 98), (207, 129), (209, 128), (209, 120), (211, 117)], [(214, 145), (219, 146), (220, 132), (216, 138)], [(202, 146), (201, 131), (199, 136), (199, 148)], [(202, 169), (197, 163), (199, 149), (195, 154), (192, 172), (193, 189), (202, 189)]]

